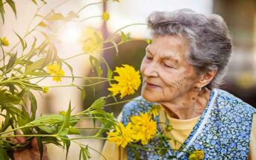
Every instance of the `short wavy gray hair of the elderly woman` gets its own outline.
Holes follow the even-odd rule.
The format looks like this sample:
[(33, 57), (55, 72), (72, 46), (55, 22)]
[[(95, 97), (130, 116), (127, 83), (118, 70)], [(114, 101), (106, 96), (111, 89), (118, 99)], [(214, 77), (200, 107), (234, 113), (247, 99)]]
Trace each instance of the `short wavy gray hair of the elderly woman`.
[(188, 42), (186, 60), (196, 68), (198, 74), (217, 70), (207, 88), (222, 84), (232, 53), (231, 36), (221, 16), (205, 16), (190, 9), (173, 12), (153, 12), (148, 26), (152, 36), (177, 35)]

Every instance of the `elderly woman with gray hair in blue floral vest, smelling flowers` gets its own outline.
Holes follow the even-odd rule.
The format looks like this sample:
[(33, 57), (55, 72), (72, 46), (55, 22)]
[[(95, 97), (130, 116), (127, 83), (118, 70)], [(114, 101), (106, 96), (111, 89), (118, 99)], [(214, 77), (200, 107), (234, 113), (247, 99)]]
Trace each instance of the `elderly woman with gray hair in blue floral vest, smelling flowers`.
[(119, 118), (128, 124), (131, 116), (159, 103), (157, 129), (171, 139), (162, 143), (168, 150), (155, 152), (160, 138), (146, 144), (151, 150), (122, 149), (107, 141), (103, 155), (111, 160), (188, 159), (186, 151), (203, 150), (204, 159), (256, 159), (256, 110), (217, 89), (232, 53), (222, 17), (189, 9), (154, 12), (148, 26), (152, 43), (140, 67), (142, 96), (127, 103)]

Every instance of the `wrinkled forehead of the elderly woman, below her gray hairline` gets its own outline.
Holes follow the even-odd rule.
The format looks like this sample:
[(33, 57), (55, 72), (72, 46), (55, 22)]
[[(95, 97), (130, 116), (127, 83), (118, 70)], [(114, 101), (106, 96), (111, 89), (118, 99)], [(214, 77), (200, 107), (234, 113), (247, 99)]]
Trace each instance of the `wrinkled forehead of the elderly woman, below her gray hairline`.
[(153, 36), (152, 43), (146, 51), (160, 58), (184, 60), (187, 42), (181, 36)]

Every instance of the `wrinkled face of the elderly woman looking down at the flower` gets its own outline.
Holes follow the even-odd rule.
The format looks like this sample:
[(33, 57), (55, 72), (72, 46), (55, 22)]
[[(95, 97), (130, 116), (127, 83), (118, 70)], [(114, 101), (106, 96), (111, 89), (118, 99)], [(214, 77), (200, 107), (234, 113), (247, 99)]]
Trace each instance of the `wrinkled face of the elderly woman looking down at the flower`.
[(193, 91), (199, 77), (185, 60), (186, 51), (187, 43), (179, 36), (153, 37), (140, 66), (146, 100), (170, 102)]

